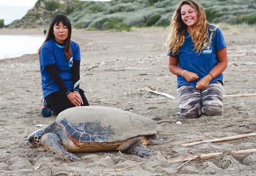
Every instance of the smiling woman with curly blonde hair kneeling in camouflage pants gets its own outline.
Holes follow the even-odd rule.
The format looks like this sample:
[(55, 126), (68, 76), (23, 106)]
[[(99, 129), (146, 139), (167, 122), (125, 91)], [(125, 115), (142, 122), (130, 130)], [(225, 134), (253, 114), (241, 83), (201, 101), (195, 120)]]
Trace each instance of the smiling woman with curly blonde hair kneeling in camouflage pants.
[(203, 7), (183, 0), (169, 26), (169, 71), (177, 75), (182, 119), (223, 114), (223, 74), (227, 50), (220, 28), (209, 24)]

